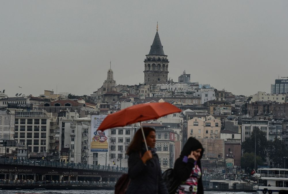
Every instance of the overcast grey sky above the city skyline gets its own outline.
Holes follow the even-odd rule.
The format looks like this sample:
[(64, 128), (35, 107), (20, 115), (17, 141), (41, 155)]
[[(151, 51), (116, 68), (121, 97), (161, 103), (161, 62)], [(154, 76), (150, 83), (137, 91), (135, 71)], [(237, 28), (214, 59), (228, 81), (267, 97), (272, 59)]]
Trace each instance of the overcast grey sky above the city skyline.
[[(288, 76), (288, 1), (0, 1), (0, 90), (92, 94), (144, 81), (159, 24), (169, 74), (236, 95)], [(18, 86), (21, 86), (19, 88)]]

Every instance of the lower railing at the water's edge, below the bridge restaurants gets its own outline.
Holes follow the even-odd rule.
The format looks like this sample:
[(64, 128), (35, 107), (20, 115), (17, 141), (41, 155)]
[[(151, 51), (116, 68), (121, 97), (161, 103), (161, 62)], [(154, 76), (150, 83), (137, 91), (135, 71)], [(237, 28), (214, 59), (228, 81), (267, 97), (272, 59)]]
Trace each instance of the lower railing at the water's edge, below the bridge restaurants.
[(0, 180), (0, 185), (35, 185), (35, 186), (115, 186), (116, 182), (89, 181), (35, 181), (35, 180)]

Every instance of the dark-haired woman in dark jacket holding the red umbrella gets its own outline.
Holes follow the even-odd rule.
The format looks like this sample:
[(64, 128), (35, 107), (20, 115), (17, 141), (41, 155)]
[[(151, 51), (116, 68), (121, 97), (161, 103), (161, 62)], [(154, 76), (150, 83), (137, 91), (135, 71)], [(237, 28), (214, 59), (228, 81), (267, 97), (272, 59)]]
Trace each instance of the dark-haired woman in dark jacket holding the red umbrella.
[(162, 179), (159, 158), (155, 149), (155, 130), (150, 127), (143, 127), (143, 132), (148, 150), (146, 150), (141, 130), (135, 133), (127, 150), (130, 184), (126, 194), (167, 194), (168, 191)]

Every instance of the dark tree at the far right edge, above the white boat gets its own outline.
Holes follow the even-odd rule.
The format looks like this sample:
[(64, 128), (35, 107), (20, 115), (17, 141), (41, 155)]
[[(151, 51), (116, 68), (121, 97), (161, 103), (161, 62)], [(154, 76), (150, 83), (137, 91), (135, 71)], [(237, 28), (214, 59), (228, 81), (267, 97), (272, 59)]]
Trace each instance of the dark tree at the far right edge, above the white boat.
[(273, 167), (284, 168), (284, 157), (288, 157), (284, 141), (275, 137), (274, 141), (269, 143), (268, 156), (269, 160), (273, 162)]

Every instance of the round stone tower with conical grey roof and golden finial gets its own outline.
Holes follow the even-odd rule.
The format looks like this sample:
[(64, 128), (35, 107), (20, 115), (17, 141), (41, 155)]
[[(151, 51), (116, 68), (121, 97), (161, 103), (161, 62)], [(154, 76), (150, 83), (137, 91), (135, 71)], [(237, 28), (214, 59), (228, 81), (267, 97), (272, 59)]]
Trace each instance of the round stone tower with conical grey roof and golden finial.
[(149, 54), (144, 59), (144, 83), (156, 85), (166, 83), (168, 79), (168, 59), (164, 54), (163, 46), (158, 34), (158, 22), (156, 34), (151, 45)]

